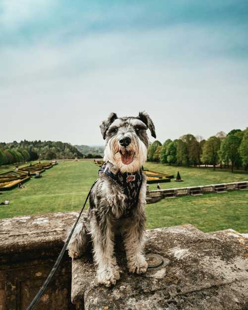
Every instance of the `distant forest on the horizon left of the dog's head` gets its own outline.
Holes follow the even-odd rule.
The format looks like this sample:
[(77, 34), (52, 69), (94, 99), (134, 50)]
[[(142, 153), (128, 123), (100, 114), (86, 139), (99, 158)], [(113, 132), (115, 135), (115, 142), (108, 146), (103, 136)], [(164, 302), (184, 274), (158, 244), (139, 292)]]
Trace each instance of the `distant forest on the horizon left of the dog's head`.
[(13, 141), (0, 142), (0, 165), (15, 164), (32, 160), (101, 158), (100, 148), (88, 147), (91, 152), (81, 152), (77, 147), (61, 141)]

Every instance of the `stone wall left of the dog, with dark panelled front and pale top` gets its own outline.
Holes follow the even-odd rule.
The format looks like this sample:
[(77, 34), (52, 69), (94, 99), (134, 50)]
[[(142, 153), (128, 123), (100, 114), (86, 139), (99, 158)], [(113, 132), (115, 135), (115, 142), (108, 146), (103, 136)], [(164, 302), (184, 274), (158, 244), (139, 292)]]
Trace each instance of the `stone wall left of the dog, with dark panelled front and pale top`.
[[(25, 310), (49, 274), (78, 213), (0, 220), (0, 310)], [(71, 259), (64, 254), (37, 310), (73, 310)]]

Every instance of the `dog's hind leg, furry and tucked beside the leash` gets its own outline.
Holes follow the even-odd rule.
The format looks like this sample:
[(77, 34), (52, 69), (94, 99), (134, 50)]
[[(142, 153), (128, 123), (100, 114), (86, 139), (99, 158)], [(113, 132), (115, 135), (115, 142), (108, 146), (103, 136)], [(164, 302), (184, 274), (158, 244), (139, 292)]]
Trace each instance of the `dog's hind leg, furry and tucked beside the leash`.
[(80, 257), (87, 248), (88, 238), (85, 221), (86, 219), (84, 218), (82, 222), (77, 224), (68, 244), (68, 255), (72, 258)]

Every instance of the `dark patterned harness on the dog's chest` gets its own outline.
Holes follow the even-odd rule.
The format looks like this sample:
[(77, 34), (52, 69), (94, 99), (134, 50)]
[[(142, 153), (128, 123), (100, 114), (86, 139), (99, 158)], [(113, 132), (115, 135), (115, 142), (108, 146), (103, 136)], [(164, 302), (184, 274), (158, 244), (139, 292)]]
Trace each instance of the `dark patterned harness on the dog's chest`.
[(134, 173), (122, 173), (120, 170), (114, 174), (109, 166), (105, 163), (100, 169), (99, 172), (105, 173), (112, 180), (117, 182), (123, 190), (125, 198), (126, 209), (122, 217), (128, 217), (131, 213), (131, 210), (136, 207), (139, 197), (140, 188), (142, 185), (142, 170), (136, 171)]

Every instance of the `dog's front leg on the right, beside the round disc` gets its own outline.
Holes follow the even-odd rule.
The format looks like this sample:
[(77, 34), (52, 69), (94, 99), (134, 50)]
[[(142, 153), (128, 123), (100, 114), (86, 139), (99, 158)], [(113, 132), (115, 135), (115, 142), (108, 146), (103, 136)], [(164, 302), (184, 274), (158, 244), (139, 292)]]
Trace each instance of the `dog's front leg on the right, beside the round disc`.
[(143, 255), (145, 243), (145, 215), (132, 221), (124, 234), (124, 247), (126, 251), (127, 266), (131, 273), (142, 274), (147, 270), (147, 262)]

